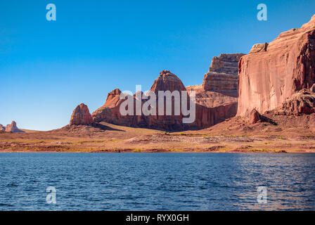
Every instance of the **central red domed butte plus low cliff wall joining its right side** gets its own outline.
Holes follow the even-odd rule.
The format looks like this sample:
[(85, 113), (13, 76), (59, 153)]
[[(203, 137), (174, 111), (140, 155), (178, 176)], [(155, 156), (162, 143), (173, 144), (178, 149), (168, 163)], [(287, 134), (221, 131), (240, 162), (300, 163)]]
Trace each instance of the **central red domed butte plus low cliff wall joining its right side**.
[[(176, 75), (169, 72), (169, 70), (163, 70), (160, 75), (155, 79), (150, 91), (154, 92), (158, 97), (158, 91), (187, 91), (181, 79)], [(188, 90), (189, 91), (189, 90)], [(235, 115), (237, 104), (226, 104), (226, 105), (201, 105), (197, 103), (195, 105), (195, 121), (192, 123), (183, 123), (184, 116), (180, 113), (179, 115), (174, 114), (174, 99), (172, 100), (172, 115), (158, 115), (158, 101), (156, 101), (155, 114), (156, 115), (121, 115), (120, 105), (124, 102), (120, 99), (121, 91), (115, 89), (108, 94), (105, 104), (98, 108), (92, 117), (94, 122), (110, 122), (113, 124), (120, 124), (129, 127), (148, 127), (153, 129), (162, 129), (167, 131), (185, 130), (185, 129), (200, 129), (204, 127), (210, 127), (217, 122), (226, 120), (227, 118)], [(142, 93), (140, 94), (140, 98)], [(139, 94), (135, 94), (134, 98), (134, 109), (136, 108), (136, 101), (141, 101), (141, 104), (146, 103), (146, 99), (139, 100)], [(189, 97), (189, 96), (188, 96)], [(180, 99), (182, 104), (183, 100)], [(189, 98), (188, 98), (189, 101)], [(189, 105), (189, 103), (187, 103)], [(166, 107), (164, 107), (166, 109)]]

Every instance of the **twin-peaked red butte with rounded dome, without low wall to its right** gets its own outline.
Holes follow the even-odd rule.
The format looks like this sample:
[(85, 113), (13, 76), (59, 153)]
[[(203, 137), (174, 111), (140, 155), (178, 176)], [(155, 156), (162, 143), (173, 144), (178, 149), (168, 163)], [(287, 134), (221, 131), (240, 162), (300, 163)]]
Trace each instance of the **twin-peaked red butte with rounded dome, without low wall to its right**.
[[(176, 75), (169, 70), (162, 70), (159, 77), (153, 82), (150, 91), (153, 91), (158, 98), (158, 91), (179, 91), (181, 93), (181, 91), (186, 91), (186, 88)], [(148, 127), (168, 131), (198, 128), (195, 123), (183, 124), (183, 115), (174, 115), (174, 110), (172, 110), (172, 115), (166, 115), (165, 105), (164, 115), (158, 115), (158, 100), (155, 103), (155, 115), (143, 115), (142, 112), (141, 115), (137, 115), (136, 103), (141, 101), (141, 105), (143, 105), (147, 101), (147, 99), (139, 100), (144, 95), (143, 93), (132, 96), (134, 99), (133, 115), (122, 115), (120, 107), (125, 100), (120, 98), (121, 93), (119, 89), (115, 89), (108, 94), (105, 104), (92, 114), (95, 122), (109, 122), (127, 127)], [(172, 101), (172, 108), (174, 109), (174, 101)]]

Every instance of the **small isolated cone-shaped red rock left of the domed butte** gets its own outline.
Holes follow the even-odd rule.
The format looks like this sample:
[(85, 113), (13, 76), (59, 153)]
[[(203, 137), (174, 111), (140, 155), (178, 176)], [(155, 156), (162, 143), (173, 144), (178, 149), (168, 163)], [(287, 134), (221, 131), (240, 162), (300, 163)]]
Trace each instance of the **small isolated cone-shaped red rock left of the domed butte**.
[(93, 118), (89, 112), (89, 108), (82, 104), (77, 105), (73, 111), (69, 125), (90, 125), (93, 123)]

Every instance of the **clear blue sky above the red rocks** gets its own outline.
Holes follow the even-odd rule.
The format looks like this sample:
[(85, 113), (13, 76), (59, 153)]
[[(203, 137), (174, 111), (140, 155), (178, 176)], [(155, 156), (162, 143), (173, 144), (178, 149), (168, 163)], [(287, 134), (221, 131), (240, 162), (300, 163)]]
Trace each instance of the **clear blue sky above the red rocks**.
[(79, 103), (92, 113), (117, 87), (148, 90), (161, 70), (201, 84), (213, 56), (248, 53), (313, 14), (311, 0), (1, 1), (0, 124), (63, 127)]

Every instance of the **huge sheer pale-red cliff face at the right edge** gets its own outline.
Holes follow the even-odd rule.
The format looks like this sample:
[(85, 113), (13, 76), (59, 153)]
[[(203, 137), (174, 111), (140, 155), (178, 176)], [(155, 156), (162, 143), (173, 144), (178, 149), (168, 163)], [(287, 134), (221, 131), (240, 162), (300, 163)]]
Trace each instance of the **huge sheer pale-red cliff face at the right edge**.
[(315, 83), (315, 15), (269, 44), (253, 46), (238, 64), (238, 113), (273, 110)]

